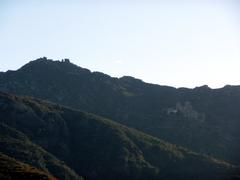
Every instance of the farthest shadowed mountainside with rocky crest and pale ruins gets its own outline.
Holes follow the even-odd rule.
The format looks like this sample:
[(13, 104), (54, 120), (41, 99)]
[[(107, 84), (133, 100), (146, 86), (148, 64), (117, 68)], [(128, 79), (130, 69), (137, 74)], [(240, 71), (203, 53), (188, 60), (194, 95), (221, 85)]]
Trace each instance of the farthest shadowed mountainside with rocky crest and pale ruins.
[(40, 58), (0, 74), (0, 89), (98, 114), (240, 164), (240, 87), (172, 88)]

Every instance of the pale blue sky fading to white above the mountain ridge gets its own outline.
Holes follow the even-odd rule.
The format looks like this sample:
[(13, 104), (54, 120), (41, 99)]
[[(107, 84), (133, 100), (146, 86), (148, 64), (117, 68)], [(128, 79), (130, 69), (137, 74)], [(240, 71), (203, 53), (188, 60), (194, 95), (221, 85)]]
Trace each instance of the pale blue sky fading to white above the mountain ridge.
[(43, 56), (160, 85), (240, 85), (240, 1), (0, 0), (0, 71)]

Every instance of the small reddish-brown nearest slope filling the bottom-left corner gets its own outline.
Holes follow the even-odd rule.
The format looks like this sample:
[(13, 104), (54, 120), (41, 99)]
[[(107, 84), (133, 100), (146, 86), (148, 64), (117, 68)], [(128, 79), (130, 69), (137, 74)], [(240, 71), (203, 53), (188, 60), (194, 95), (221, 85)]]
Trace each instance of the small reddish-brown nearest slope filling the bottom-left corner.
[(0, 153), (0, 179), (55, 180), (52, 175)]

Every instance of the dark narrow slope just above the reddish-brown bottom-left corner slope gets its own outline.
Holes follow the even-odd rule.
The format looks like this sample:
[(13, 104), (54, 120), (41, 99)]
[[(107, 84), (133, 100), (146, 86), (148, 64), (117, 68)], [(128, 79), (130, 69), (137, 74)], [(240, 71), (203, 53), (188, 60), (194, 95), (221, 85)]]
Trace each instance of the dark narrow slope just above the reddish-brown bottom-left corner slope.
[[(1, 118), (1, 121), (2, 120), (3, 119)], [(59, 179), (82, 180), (81, 177), (79, 177), (63, 162), (56, 159), (53, 155), (49, 154), (38, 145), (32, 143), (26, 135), (15, 130), (14, 128), (3, 124), (2, 122), (0, 123), (0, 153), (4, 153), (5, 155), (16, 158), (20, 162), (24, 162), (34, 167), (37, 167), (38, 169), (46, 172), (46, 174), (51, 173)], [(14, 164), (14, 161), (12, 161), (12, 164)], [(4, 164), (2, 165), (4, 166)], [(16, 163), (16, 165), (19, 165), (19, 163)], [(4, 167), (6, 168), (6, 170), (9, 169), (8, 166)], [(17, 174), (11, 174), (11, 172), (14, 173), (14, 169), (15, 168), (13, 166), (10, 166), (10, 171), (8, 175), (16, 178)], [(25, 167), (23, 165), (23, 172), (27, 173), (27, 171), (25, 170), (27, 170), (27, 166)], [(35, 170), (33, 169), (33, 172), (34, 171)], [(21, 176), (21, 172), (19, 173), (19, 176)], [(29, 171), (29, 173), (29, 175), (31, 175), (31, 171)]]

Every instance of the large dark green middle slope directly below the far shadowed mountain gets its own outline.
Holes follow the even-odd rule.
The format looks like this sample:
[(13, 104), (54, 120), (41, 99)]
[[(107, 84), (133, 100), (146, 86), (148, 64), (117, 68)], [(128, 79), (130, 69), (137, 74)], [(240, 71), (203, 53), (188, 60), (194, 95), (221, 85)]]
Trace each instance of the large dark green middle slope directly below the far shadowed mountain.
[(29, 97), (0, 93), (0, 121), (2, 152), (29, 162), (36, 145), (16, 142), (29, 138), (90, 180), (230, 179), (237, 174), (236, 168), (224, 161), (92, 114)]

